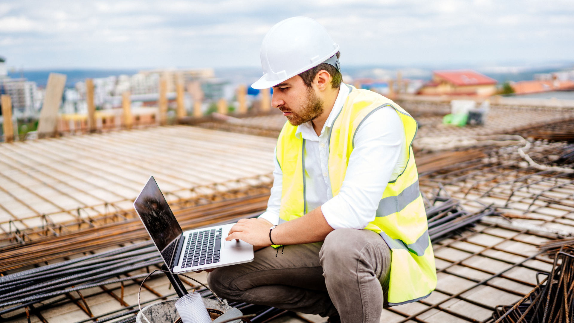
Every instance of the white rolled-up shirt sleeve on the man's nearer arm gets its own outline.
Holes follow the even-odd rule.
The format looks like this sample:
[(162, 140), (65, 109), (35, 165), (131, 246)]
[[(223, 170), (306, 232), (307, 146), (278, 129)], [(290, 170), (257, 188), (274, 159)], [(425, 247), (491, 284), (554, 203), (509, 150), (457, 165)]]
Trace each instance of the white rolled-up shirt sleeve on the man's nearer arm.
[(363, 229), (375, 220), (383, 191), (405, 149), (401, 118), (393, 107), (382, 107), (363, 121), (354, 140), (341, 190), (321, 206), (333, 229)]

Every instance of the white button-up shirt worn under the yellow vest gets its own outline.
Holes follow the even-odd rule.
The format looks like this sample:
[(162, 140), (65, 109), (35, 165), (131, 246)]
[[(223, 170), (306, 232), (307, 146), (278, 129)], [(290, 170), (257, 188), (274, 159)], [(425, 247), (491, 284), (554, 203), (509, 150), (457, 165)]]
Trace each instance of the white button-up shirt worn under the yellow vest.
[[(383, 191), (405, 149), (404, 128), (395, 109), (391, 106), (378, 109), (356, 130), (355, 148), (351, 152), (345, 179), (339, 194), (333, 197), (328, 173), (328, 136), (349, 93), (350, 87), (342, 83), (319, 136), (312, 121), (298, 126), (295, 133), (297, 138), (305, 139), (307, 212), (321, 206), (325, 220), (333, 229), (363, 229), (375, 220), (375, 210)], [(279, 218), (283, 174), (275, 158), (274, 163), (271, 196), (266, 212), (259, 218), (277, 225), (283, 222)]]

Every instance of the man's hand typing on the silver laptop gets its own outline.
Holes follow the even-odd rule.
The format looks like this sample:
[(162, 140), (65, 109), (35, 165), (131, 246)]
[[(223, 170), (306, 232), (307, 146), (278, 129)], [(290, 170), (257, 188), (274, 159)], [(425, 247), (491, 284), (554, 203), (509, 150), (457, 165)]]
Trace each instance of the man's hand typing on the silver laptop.
[(269, 229), (272, 226), (271, 222), (264, 219), (241, 219), (231, 227), (225, 240), (241, 239), (258, 247), (269, 247), (271, 245)]

